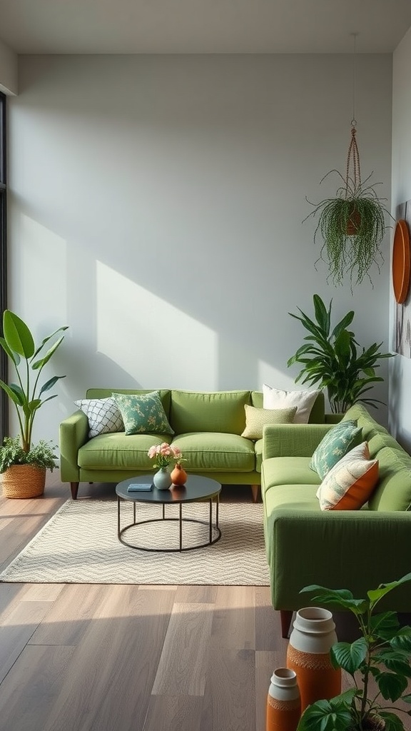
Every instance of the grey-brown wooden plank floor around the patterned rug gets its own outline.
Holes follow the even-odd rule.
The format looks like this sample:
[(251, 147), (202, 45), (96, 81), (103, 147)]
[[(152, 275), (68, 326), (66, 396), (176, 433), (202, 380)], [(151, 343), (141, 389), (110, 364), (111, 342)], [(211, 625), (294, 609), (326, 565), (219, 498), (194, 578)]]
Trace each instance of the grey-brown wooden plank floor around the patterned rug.
[[(0, 568), (68, 498), (0, 498)], [(268, 587), (0, 583), (0, 731), (265, 731), (286, 651)]]

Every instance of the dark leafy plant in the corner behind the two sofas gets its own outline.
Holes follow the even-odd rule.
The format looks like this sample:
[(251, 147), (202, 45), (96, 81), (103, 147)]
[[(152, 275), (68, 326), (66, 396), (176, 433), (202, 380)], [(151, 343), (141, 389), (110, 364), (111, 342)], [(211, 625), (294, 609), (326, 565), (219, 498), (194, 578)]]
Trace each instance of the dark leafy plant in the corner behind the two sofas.
[(333, 413), (345, 412), (357, 401), (369, 406), (381, 403), (366, 394), (372, 389), (372, 384), (384, 380), (377, 376), (376, 368), (380, 367), (378, 361), (393, 354), (380, 352), (382, 343), (373, 343), (368, 348), (358, 345), (354, 333), (347, 329), (354, 319), (353, 310), (332, 327), (332, 300), (328, 308), (320, 295), (314, 295), (313, 301), (314, 319), (300, 308), (299, 315), (288, 313), (309, 332), (304, 338), (306, 343), (287, 360), (288, 367), (294, 363), (303, 366), (295, 382), (326, 388)]

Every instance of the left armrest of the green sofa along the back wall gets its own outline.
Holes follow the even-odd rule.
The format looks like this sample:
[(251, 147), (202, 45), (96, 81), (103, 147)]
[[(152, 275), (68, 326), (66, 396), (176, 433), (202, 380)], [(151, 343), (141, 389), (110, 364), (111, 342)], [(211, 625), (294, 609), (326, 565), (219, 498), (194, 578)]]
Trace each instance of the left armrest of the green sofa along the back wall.
[(88, 440), (88, 418), (79, 411), (60, 424), (60, 473), (61, 482), (78, 482), (78, 450)]

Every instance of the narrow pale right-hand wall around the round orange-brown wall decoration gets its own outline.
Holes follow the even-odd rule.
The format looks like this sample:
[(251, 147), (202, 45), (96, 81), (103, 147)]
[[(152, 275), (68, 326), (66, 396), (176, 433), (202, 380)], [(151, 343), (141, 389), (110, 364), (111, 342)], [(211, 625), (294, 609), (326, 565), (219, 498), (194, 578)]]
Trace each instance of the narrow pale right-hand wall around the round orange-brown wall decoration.
[[(392, 210), (411, 199), (411, 29), (393, 54)], [(391, 320), (394, 300), (391, 295)], [(391, 341), (393, 342), (393, 322)], [(397, 355), (390, 364), (390, 426), (411, 451), (411, 360)]]

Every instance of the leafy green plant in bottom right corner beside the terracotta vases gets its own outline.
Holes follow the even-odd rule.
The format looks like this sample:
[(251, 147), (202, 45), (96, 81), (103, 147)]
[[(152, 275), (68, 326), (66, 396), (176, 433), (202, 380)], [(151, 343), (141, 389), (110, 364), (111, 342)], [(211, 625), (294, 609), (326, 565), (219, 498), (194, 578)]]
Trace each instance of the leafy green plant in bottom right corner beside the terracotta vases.
[[(411, 703), (407, 692), (411, 678), (411, 627), (400, 626), (395, 612), (374, 613), (383, 596), (411, 580), (411, 573), (397, 581), (367, 591), (366, 599), (355, 599), (347, 589), (305, 586), (313, 602), (350, 610), (358, 620), (360, 637), (352, 643), (339, 642), (330, 651), (333, 667), (348, 673), (353, 687), (331, 700), (309, 705), (301, 716), (298, 731), (404, 731), (397, 715), (404, 711), (395, 704)], [(388, 702), (391, 702), (389, 705)], [(396, 713), (392, 713), (396, 711)]]

